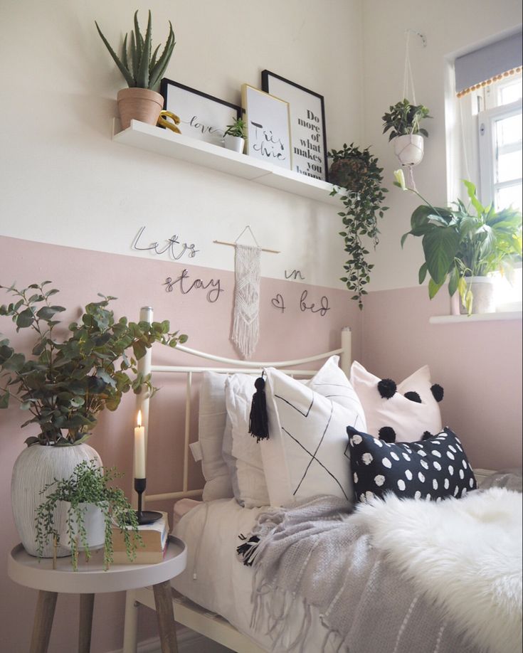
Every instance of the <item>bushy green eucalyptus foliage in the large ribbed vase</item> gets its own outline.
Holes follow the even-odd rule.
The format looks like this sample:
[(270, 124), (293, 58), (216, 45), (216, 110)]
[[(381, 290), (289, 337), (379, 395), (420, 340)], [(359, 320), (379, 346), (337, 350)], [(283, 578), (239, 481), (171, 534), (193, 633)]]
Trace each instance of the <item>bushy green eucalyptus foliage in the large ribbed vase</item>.
[(31, 418), (40, 432), (26, 444), (76, 445), (83, 442), (97, 422), (101, 410), (116, 410), (122, 395), (155, 389), (151, 375), (138, 371), (137, 361), (154, 342), (171, 347), (186, 341), (178, 331), (169, 333), (169, 322), (128, 322), (115, 319), (108, 305), (115, 297), (102, 297), (87, 304), (78, 322), (65, 327), (56, 317), (65, 311), (52, 304), (58, 293), (50, 281), (33, 283), (18, 290), (0, 289), (14, 296), (0, 306), (0, 316), (11, 317), (16, 331), (31, 329), (36, 339), (31, 356), (18, 353), (0, 334), (0, 408), (11, 399)]

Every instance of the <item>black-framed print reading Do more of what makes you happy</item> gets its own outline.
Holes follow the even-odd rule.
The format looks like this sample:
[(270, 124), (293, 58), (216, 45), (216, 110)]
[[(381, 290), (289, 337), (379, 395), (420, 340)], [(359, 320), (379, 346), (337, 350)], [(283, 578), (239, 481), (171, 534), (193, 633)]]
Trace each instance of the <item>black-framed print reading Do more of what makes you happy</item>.
[(323, 96), (269, 70), (262, 71), (262, 88), (289, 103), (292, 170), (327, 181)]

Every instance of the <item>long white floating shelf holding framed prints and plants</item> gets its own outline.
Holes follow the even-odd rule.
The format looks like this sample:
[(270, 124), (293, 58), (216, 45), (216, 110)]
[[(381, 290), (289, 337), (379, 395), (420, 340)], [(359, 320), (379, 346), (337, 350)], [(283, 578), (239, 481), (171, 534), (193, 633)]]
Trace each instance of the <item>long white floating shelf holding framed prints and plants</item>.
[[(294, 195), (306, 197), (317, 202), (340, 206), (339, 197), (329, 196), (334, 186), (327, 181), (312, 179), (292, 170), (272, 166), (265, 161), (258, 161), (246, 154), (232, 152), (225, 147), (199, 141), (184, 134), (174, 134), (170, 129), (153, 127), (150, 124), (132, 120), (131, 126), (117, 131), (117, 121), (113, 128), (112, 139), (122, 145), (130, 145), (147, 152), (170, 156), (171, 159), (211, 168), (241, 179), (249, 179), (264, 186), (287, 191)], [(343, 206), (339, 208), (341, 211)]]

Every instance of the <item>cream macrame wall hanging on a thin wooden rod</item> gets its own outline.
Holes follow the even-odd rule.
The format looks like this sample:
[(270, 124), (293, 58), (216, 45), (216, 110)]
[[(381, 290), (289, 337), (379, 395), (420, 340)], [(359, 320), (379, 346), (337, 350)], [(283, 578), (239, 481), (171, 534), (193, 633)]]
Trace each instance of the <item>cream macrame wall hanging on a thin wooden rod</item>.
[[(255, 245), (242, 245), (238, 240), (249, 231)], [(260, 262), (261, 253), (278, 254), (276, 250), (260, 248), (249, 225), (243, 229), (234, 243), (214, 240), (220, 245), (232, 245), (234, 255), (234, 310), (231, 340), (244, 359), (252, 356), (260, 336)]]

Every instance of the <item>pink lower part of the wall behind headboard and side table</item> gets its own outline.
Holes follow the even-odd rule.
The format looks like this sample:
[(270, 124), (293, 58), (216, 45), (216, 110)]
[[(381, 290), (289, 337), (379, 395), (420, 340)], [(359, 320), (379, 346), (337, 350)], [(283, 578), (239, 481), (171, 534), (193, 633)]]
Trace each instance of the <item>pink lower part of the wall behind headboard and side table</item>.
[[(213, 278), (220, 280), (223, 292), (218, 301), (206, 300), (206, 291), (194, 289), (181, 294), (179, 284), (171, 292), (163, 285), (167, 277), (176, 280), (184, 267), (189, 270), (190, 280), (200, 278), (205, 283)], [(138, 319), (143, 305), (154, 307), (155, 319), (169, 319), (173, 329), (189, 334), (189, 346), (212, 351), (222, 356), (236, 357), (229, 341), (233, 310), (234, 277), (232, 272), (211, 270), (204, 267), (185, 266), (174, 262), (130, 258), (88, 250), (41, 245), (28, 240), (0, 237), (0, 283), (10, 285), (16, 280), (18, 287), (43, 280), (52, 280), (60, 289), (56, 303), (68, 308), (63, 321), (68, 324), (78, 317), (81, 305), (97, 300), (97, 293), (118, 297), (114, 302), (115, 314), (125, 314)], [(187, 287), (187, 286), (186, 286)], [(211, 290), (211, 288), (209, 288)], [(308, 291), (307, 304), (320, 304), (322, 295), (329, 299), (329, 311), (324, 317), (310, 310), (300, 310), (300, 296)], [(280, 293), (285, 302), (285, 312), (271, 303)], [(0, 291), (0, 304), (10, 299)], [(344, 290), (310, 287), (298, 282), (263, 279), (261, 284), (260, 341), (255, 359), (293, 359), (336, 349), (339, 331), (348, 325), (353, 329), (353, 351), (361, 356), (361, 317), (354, 302)], [(9, 319), (1, 319), (0, 331), (11, 342), (29, 351), (28, 332), (16, 334)], [(159, 361), (173, 361), (176, 351), (158, 352)], [(167, 355), (166, 355), (167, 354)], [(162, 418), (152, 422), (150, 437), (156, 438), (156, 448), (147, 461), (148, 490), (152, 493), (181, 489), (181, 455), (172, 445), (176, 434), (181, 432), (181, 411), (169, 398), (167, 381), (155, 398), (162, 408)], [(11, 470), (16, 457), (23, 448), (23, 440), (33, 434), (31, 427), (21, 431), (25, 419), (16, 405), (0, 412), (0, 559), (6, 560), (11, 548), (19, 541), (11, 516), (9, 501)], [(132, 427), (134, 424), (134, 400), (126, 395), (116, 413), (104, 413), (97, 425), (90, 444), (100, 453), (104, 464), (116, 465), (126, 472), (122, 487), (130, 491), (132, 474)], [(172, 435), (174, 434), (174, 435)], [(201, 487), (201, 477), (196, 466), (191, 470), (191, 486)], [(159, 506), (169, 509), (168, 504)], [(0, 568), (0, 614), (2, 635), (0, 650), (22, 653), (28, 649), (36, 606), (36, 591), (13, 583), (6, 576), (6, 566)], [(95, 601), (93, 625), (93, 653), (107, 652), (122, 646), (123, 595), (100, 595)], [(24, 627), (21, 627), (23, 619)], [(154, 636), (156, 627), (152, 612), (144, 609), (139, 627), (139, 639)], [(63, 653), (71, 649), (71, 638), (76, 637), (78, 623), (76, 598), (61, 597), (51, 636), (51, 653)]]

